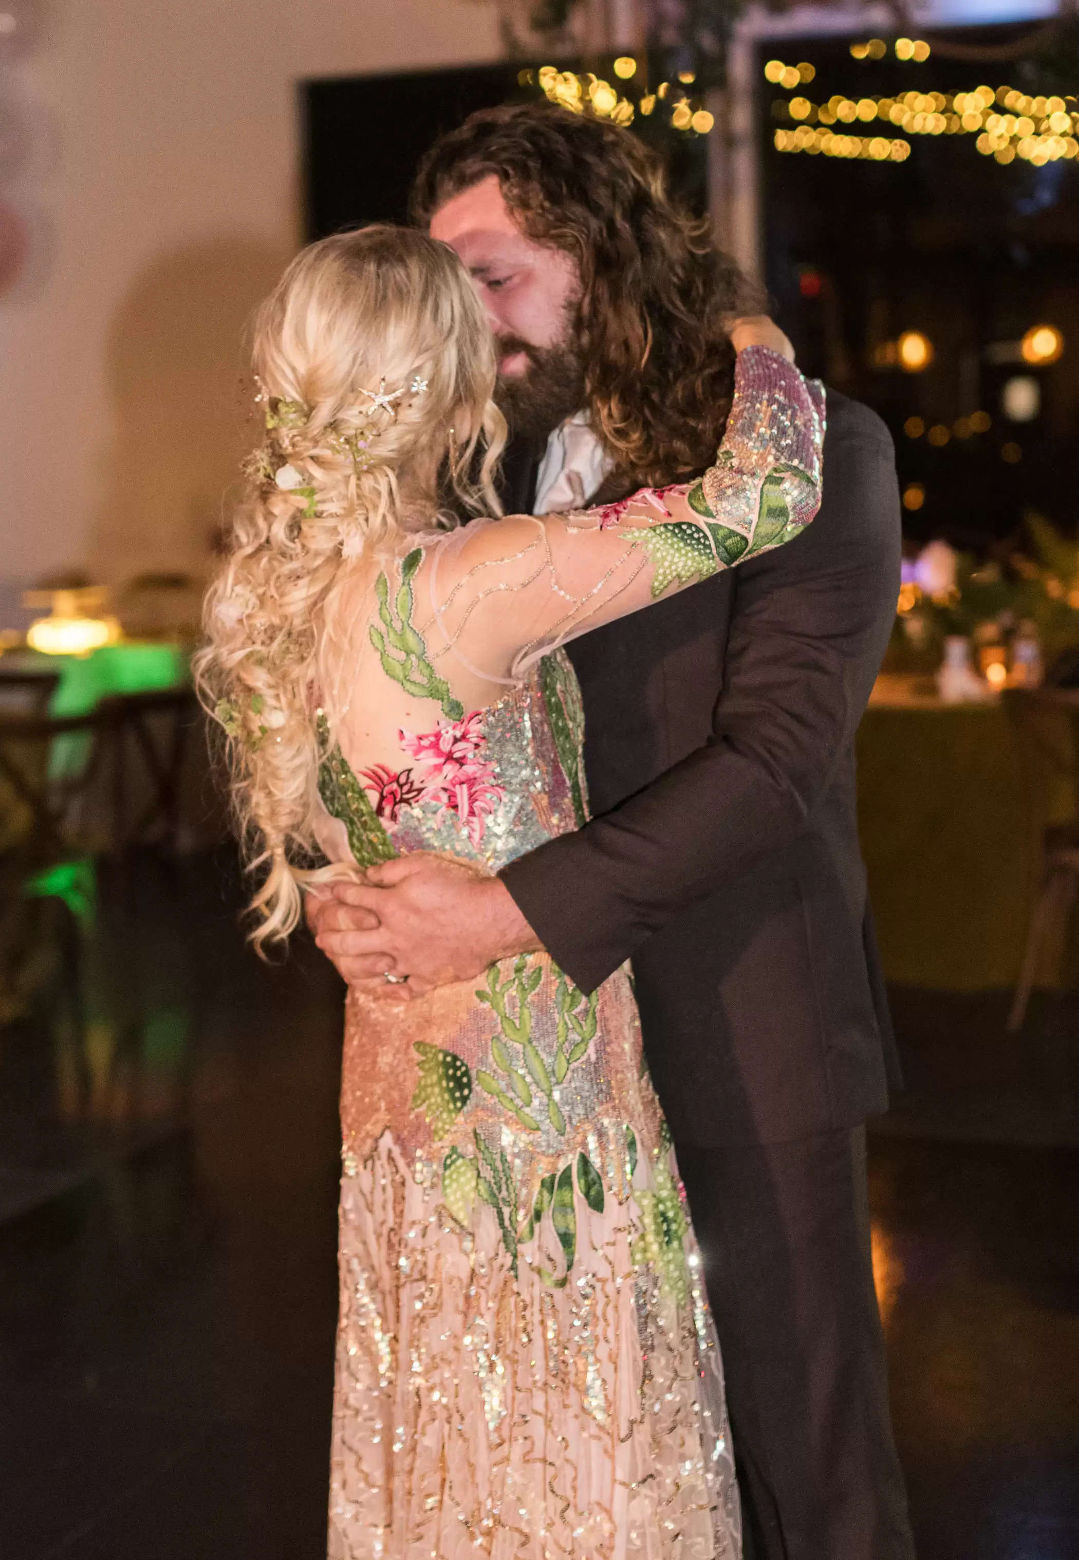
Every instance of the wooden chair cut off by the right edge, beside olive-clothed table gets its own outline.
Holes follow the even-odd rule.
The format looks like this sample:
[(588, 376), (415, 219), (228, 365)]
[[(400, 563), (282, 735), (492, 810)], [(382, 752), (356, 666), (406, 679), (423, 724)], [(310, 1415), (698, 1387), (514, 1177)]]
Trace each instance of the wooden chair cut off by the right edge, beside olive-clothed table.
[(1063, 786), (1071, 792), (1073, 811), (1070, 821), (1042, 824), (1040, 839), (1034, 841), (1042, 870), (1031, 908), (1023, 966), (1007, 1017), (1009, 1033), (1018, 1034), (1040, 963), (1046, 948), (1067, 933), (1079, 886), (1079, 690), (1017, 688), (1006, 696), (1006, 708), (1015, 721), (1042, 805), (1046, 805), (1052, 786)]

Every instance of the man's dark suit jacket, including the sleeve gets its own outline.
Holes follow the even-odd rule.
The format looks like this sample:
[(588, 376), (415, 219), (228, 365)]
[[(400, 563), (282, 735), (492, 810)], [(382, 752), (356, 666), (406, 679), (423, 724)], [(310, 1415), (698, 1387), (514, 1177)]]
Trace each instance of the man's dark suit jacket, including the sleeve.
[(583, 991), (633, 959), (677, 1142), (781, 1142), (887, 1106), (854, 732), (898, 583), (890, 435), (830, 392), (805, 535), (569, 646), (594, 816), (502, 880)]

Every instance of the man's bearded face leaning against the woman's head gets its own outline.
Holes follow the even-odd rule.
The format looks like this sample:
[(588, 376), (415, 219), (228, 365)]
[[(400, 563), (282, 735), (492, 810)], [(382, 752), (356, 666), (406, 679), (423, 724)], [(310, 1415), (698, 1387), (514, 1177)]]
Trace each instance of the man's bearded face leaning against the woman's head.
[(572, 256), (521, 231), (494, 175), (430, 218), (476, 282), (499, 346), (496, 399), (518, 434), (549, 434), (585, 399)]

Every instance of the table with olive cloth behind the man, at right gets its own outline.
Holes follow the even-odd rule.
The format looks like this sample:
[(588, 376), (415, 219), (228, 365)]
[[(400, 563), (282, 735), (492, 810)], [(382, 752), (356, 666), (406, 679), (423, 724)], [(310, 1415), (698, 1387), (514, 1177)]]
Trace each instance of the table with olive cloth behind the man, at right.
[(858, 814), (884, 972), (900, 984), (1015, 984), (1048, 822), (1074, 788), (1038, 778), (996, 696), (943, 704), (883, 675), (858, 733)]

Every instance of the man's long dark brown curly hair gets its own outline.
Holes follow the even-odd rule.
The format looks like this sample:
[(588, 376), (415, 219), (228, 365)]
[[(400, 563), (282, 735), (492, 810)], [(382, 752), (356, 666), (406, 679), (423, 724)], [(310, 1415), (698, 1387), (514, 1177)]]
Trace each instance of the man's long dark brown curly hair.
[(413, 220), (490, 175), (524, 232), (580, 267), (586, 399), (619, 471), (658, 484), (709, 465), (734, 384), (723, 321), (758, 312), (759, 289), (616, 125), (546, 103), (482, 109), (426, 154)]

